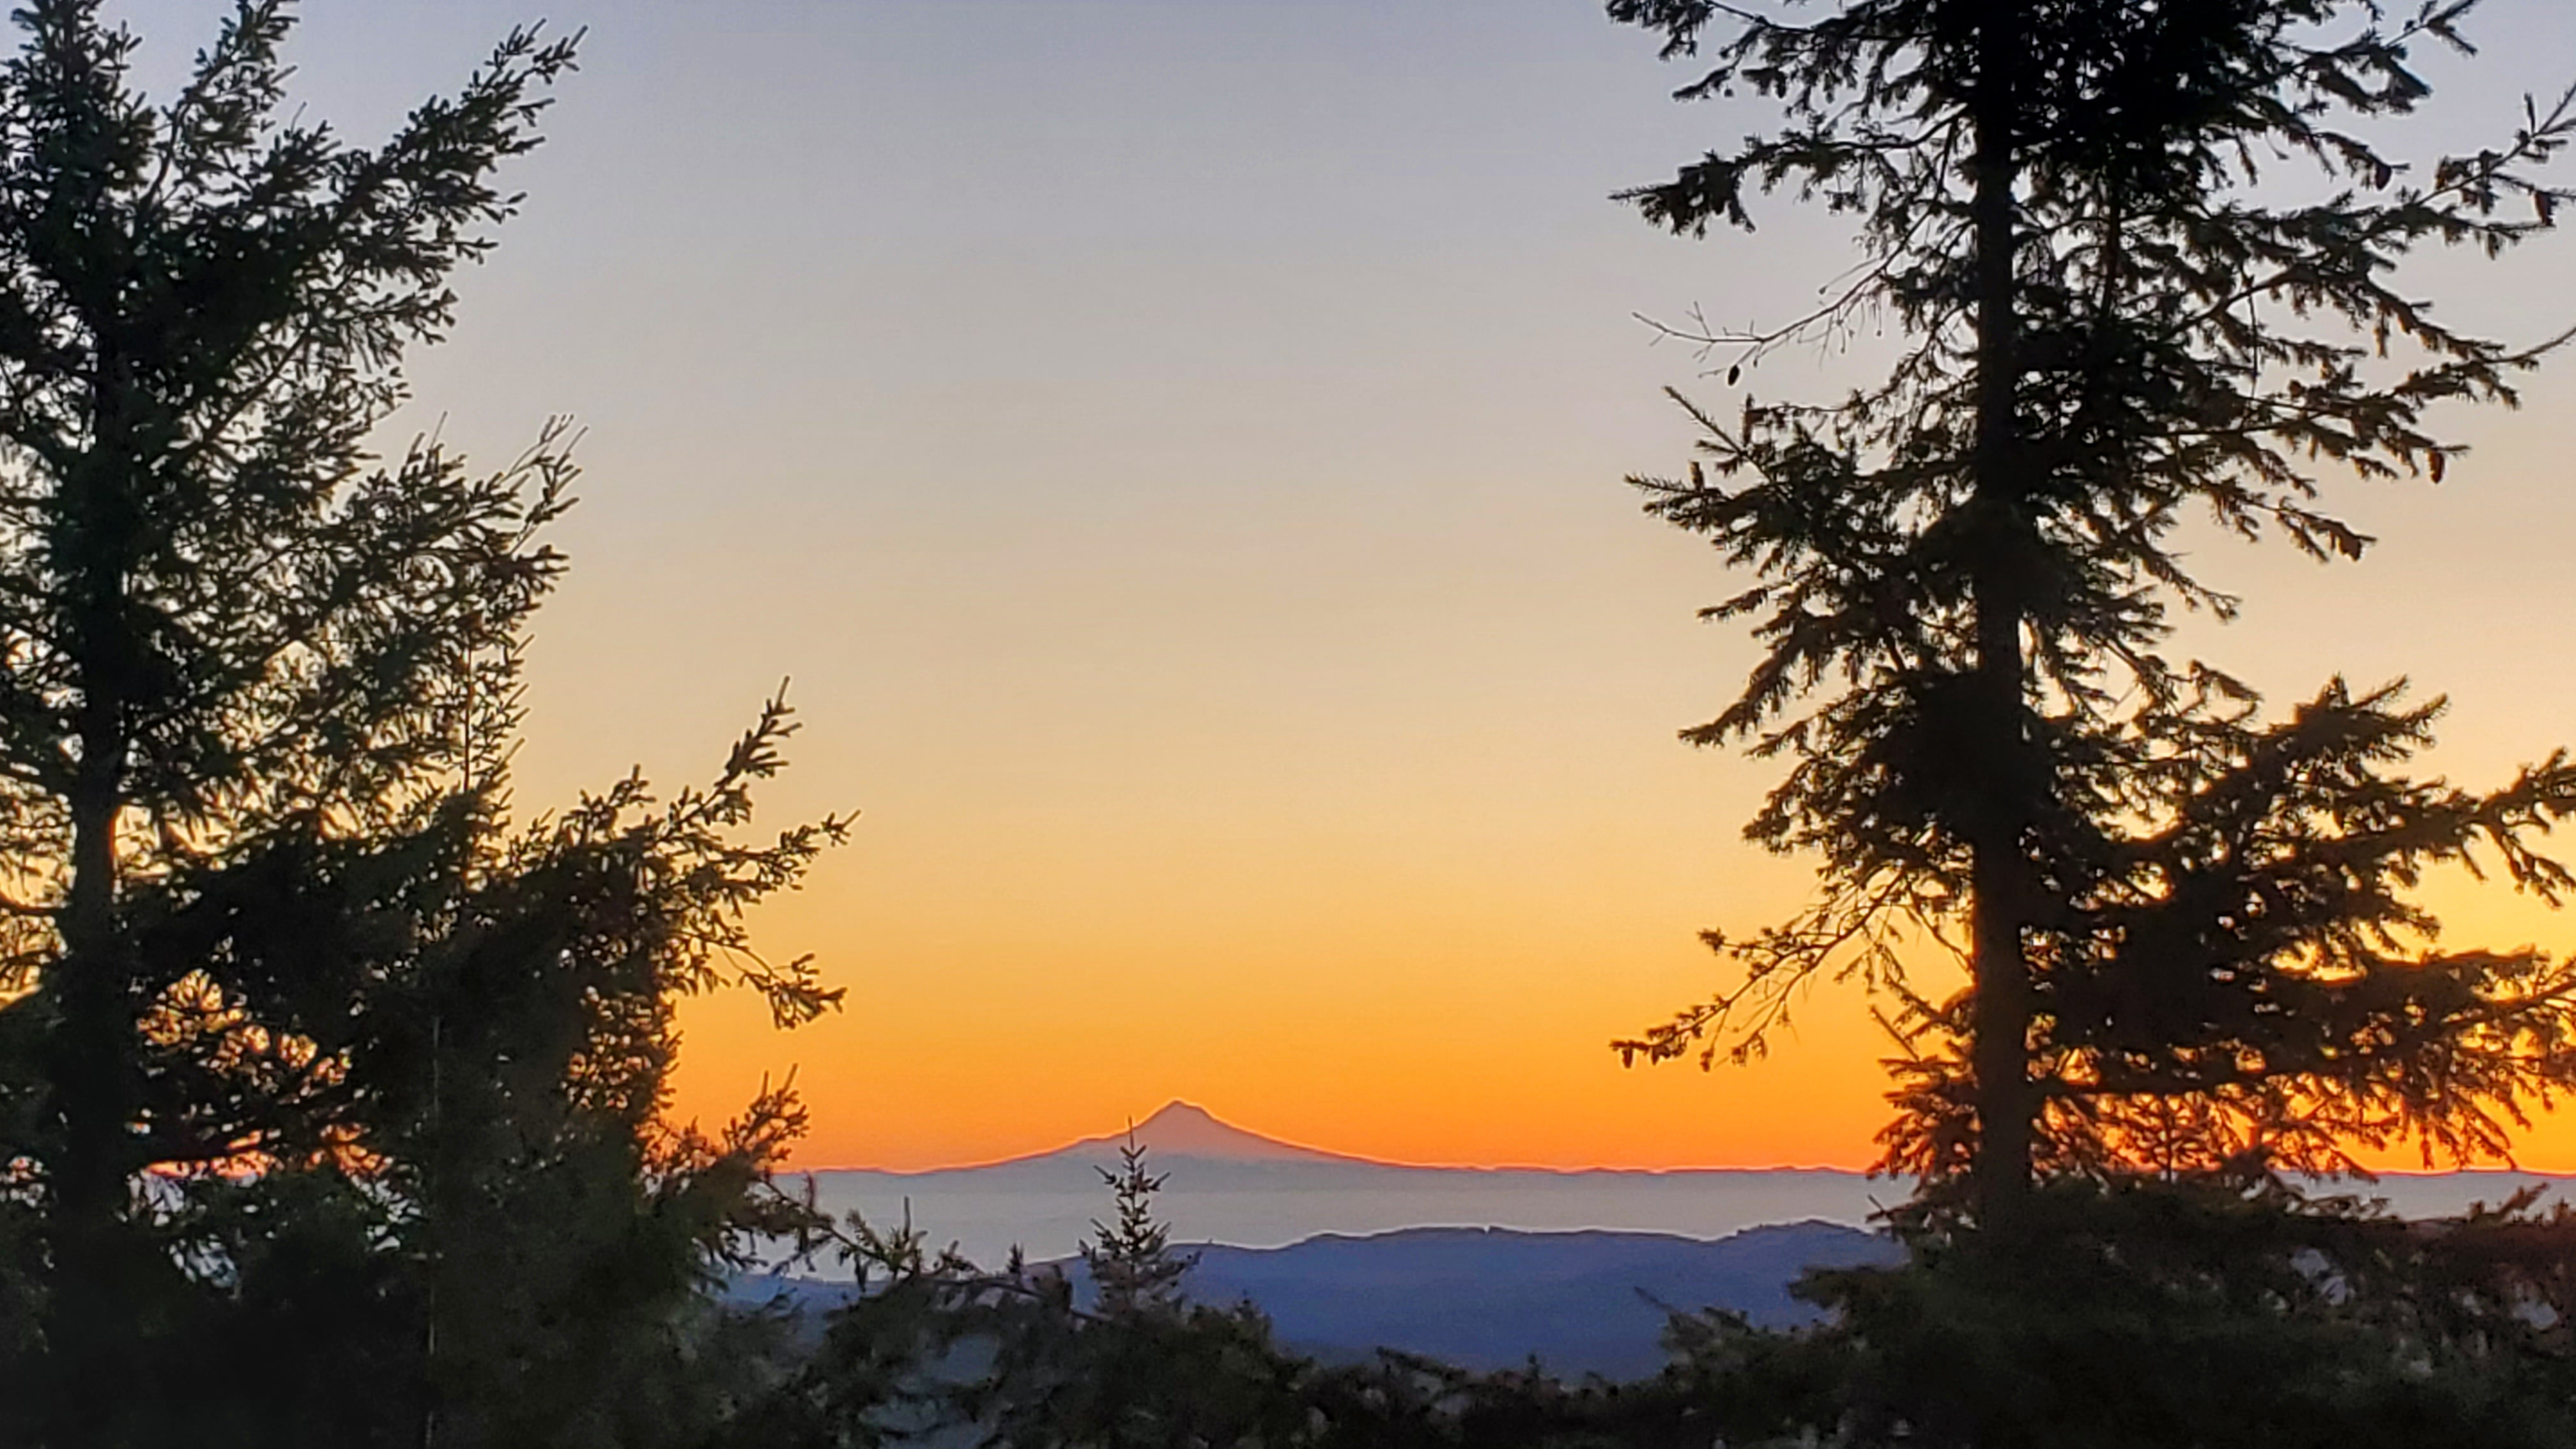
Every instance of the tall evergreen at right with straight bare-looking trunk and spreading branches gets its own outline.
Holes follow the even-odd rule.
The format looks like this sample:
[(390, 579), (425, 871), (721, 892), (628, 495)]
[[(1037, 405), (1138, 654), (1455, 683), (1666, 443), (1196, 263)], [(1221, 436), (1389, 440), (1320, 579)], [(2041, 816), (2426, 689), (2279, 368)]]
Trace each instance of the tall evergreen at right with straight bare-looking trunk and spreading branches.
[[(1749, 227), (1790, 191), (1860, 229), (1816, 312), (1700, 335), (1728, 382), (1862, 315), (1904, 340), (1842, 402), (1690, 405), (1703, 462), (1638, 480), (1754, 575), (1710, 614), (1765, 655), (1687, 737), (1790, 763), (1749, 835), (1821, 853), (1824, 887), (1710, 936), (1744, 980), (1631, 1060), (1759, 1052), (1803, 982), (1857, 975), (1901, 1000), (1886, 1165), (1965, 1178), (1994, 1225), (2040, 1171), (2491, 1155), (2576, 1083), (2576, 972), (2442, 949), (2409, 900), (2486, 859), (2555, 902), (2535, 835), (2576, 810), (2568, 758), (2463, 792), (2401, 773), (2439, 701), (2331, 681), (2264, 719), (2164, 652), (2174, 608), (2236, 608), (2177, 547), (2192, 513), (2360, 557), (2318, 469), (2439, 482), (2463, 449), (2434, 410), (2512, 402), (2548, 351), (2452, 330), (2398, 276), (2568, 201), (2537, 170), (2566, 101), (2429, 168), (2375, 139), (2473, 5), (1610, 0), (1705, 52), (1682, 98), (1785, 113), (1625, 193), (1646, 219)], [(1906, 964), (1942, 944), (1971, 985), (1932, 1000)]]

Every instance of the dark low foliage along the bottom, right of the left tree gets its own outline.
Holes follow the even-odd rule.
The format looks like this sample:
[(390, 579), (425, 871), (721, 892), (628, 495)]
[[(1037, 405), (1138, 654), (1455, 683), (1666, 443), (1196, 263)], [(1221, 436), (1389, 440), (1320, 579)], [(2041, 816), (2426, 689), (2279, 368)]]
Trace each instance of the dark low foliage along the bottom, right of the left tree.
[[(2063, 1183), (1999, 1243), (1909, 1209), (1899, 1269), (1811, 1274), (1806, 1330), (1672, 1320), (1641, 1382), (1316, 1364), (1252, 1307), (1082, 1307), (863, 1227), (871, 1266), (724, 1446), (2378, 1449), (2576, 1441), (2576, 1220), (2380, 1217), (2272, 1181)], [(1175, 1261), (1157, 1250), (1154, 1269)], [(811, 1341), (809, 1341), (811, 1343)]]

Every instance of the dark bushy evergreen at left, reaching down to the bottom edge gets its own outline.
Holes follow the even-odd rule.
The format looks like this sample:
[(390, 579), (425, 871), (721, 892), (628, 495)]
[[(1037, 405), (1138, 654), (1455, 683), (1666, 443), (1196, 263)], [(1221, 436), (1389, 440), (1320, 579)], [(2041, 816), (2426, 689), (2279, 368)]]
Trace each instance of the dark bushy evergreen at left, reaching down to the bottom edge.
[(647, 1444), (667, 1374), (608, 1374), (799, 1122), (667, 1129), (672, 995), (829, 1003), (742, 910), (840, 822), (734, 841), (783, 706), (507, 822), (567, 436), (368, 438), (572, 44), (366, 150), (286, 111), (289, 18), (165, 103), (95, 0), (0, 67), (0, 1439)]

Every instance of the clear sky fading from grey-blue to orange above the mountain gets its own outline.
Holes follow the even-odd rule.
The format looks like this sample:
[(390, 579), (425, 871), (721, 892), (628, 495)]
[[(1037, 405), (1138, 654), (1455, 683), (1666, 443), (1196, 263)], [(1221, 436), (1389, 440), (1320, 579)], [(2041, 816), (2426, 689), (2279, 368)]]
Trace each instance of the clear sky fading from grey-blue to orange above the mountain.
[[(1886, 1039), (1850, 993), (1757, 1067), (1607, 1042), (1723, 982), (1695, 941), (1811, 866), (1741, 843), (1772, 766), (1690, 750), (1752, 657), (1731, 580), (1638, 513), (1718, 379), (1638, 320), (1793, 315), (1847, 266), (1607, 201), (1759, 129), (1589, 0), (307, 0), (307, 113), (381, 137), (513, 23), (585, 28), (526, 206), (415, 356), (399, 443), (492, 464), (585, 428), (538, 621), (523, 807), (708, 776), (791, 683), (765, 822), (858, 810), (765, 905), (840, 1013), (683, 1013), (677, 1111), (793, 1070), (804, 1165), (1043, 1150), (1206, 1104), (1414, 1163), (1865, 1165)], [(2491, 0), (2398, 147), (2509, 131), (2576, 80), (2563, 0)], [(139, 77), (211, 0), (126, 0)], [(2576, 240), (2421, 289), (2576, 322)], [(1873, 340), (1777, 353), (1834, 394)], [(2190, 645), (2280, 699), (2342, 670), (2452, 699), (2463, 784), (2576, 740), (2576, 356), (2434, 490), (2344, 487), (2321, 570), (2208, 544), (2241, 624)], [(2439, 882), (2450, 944), (2576, 918)], [(2522, 1163), (2576, 1171), (2576, 1111)]]

